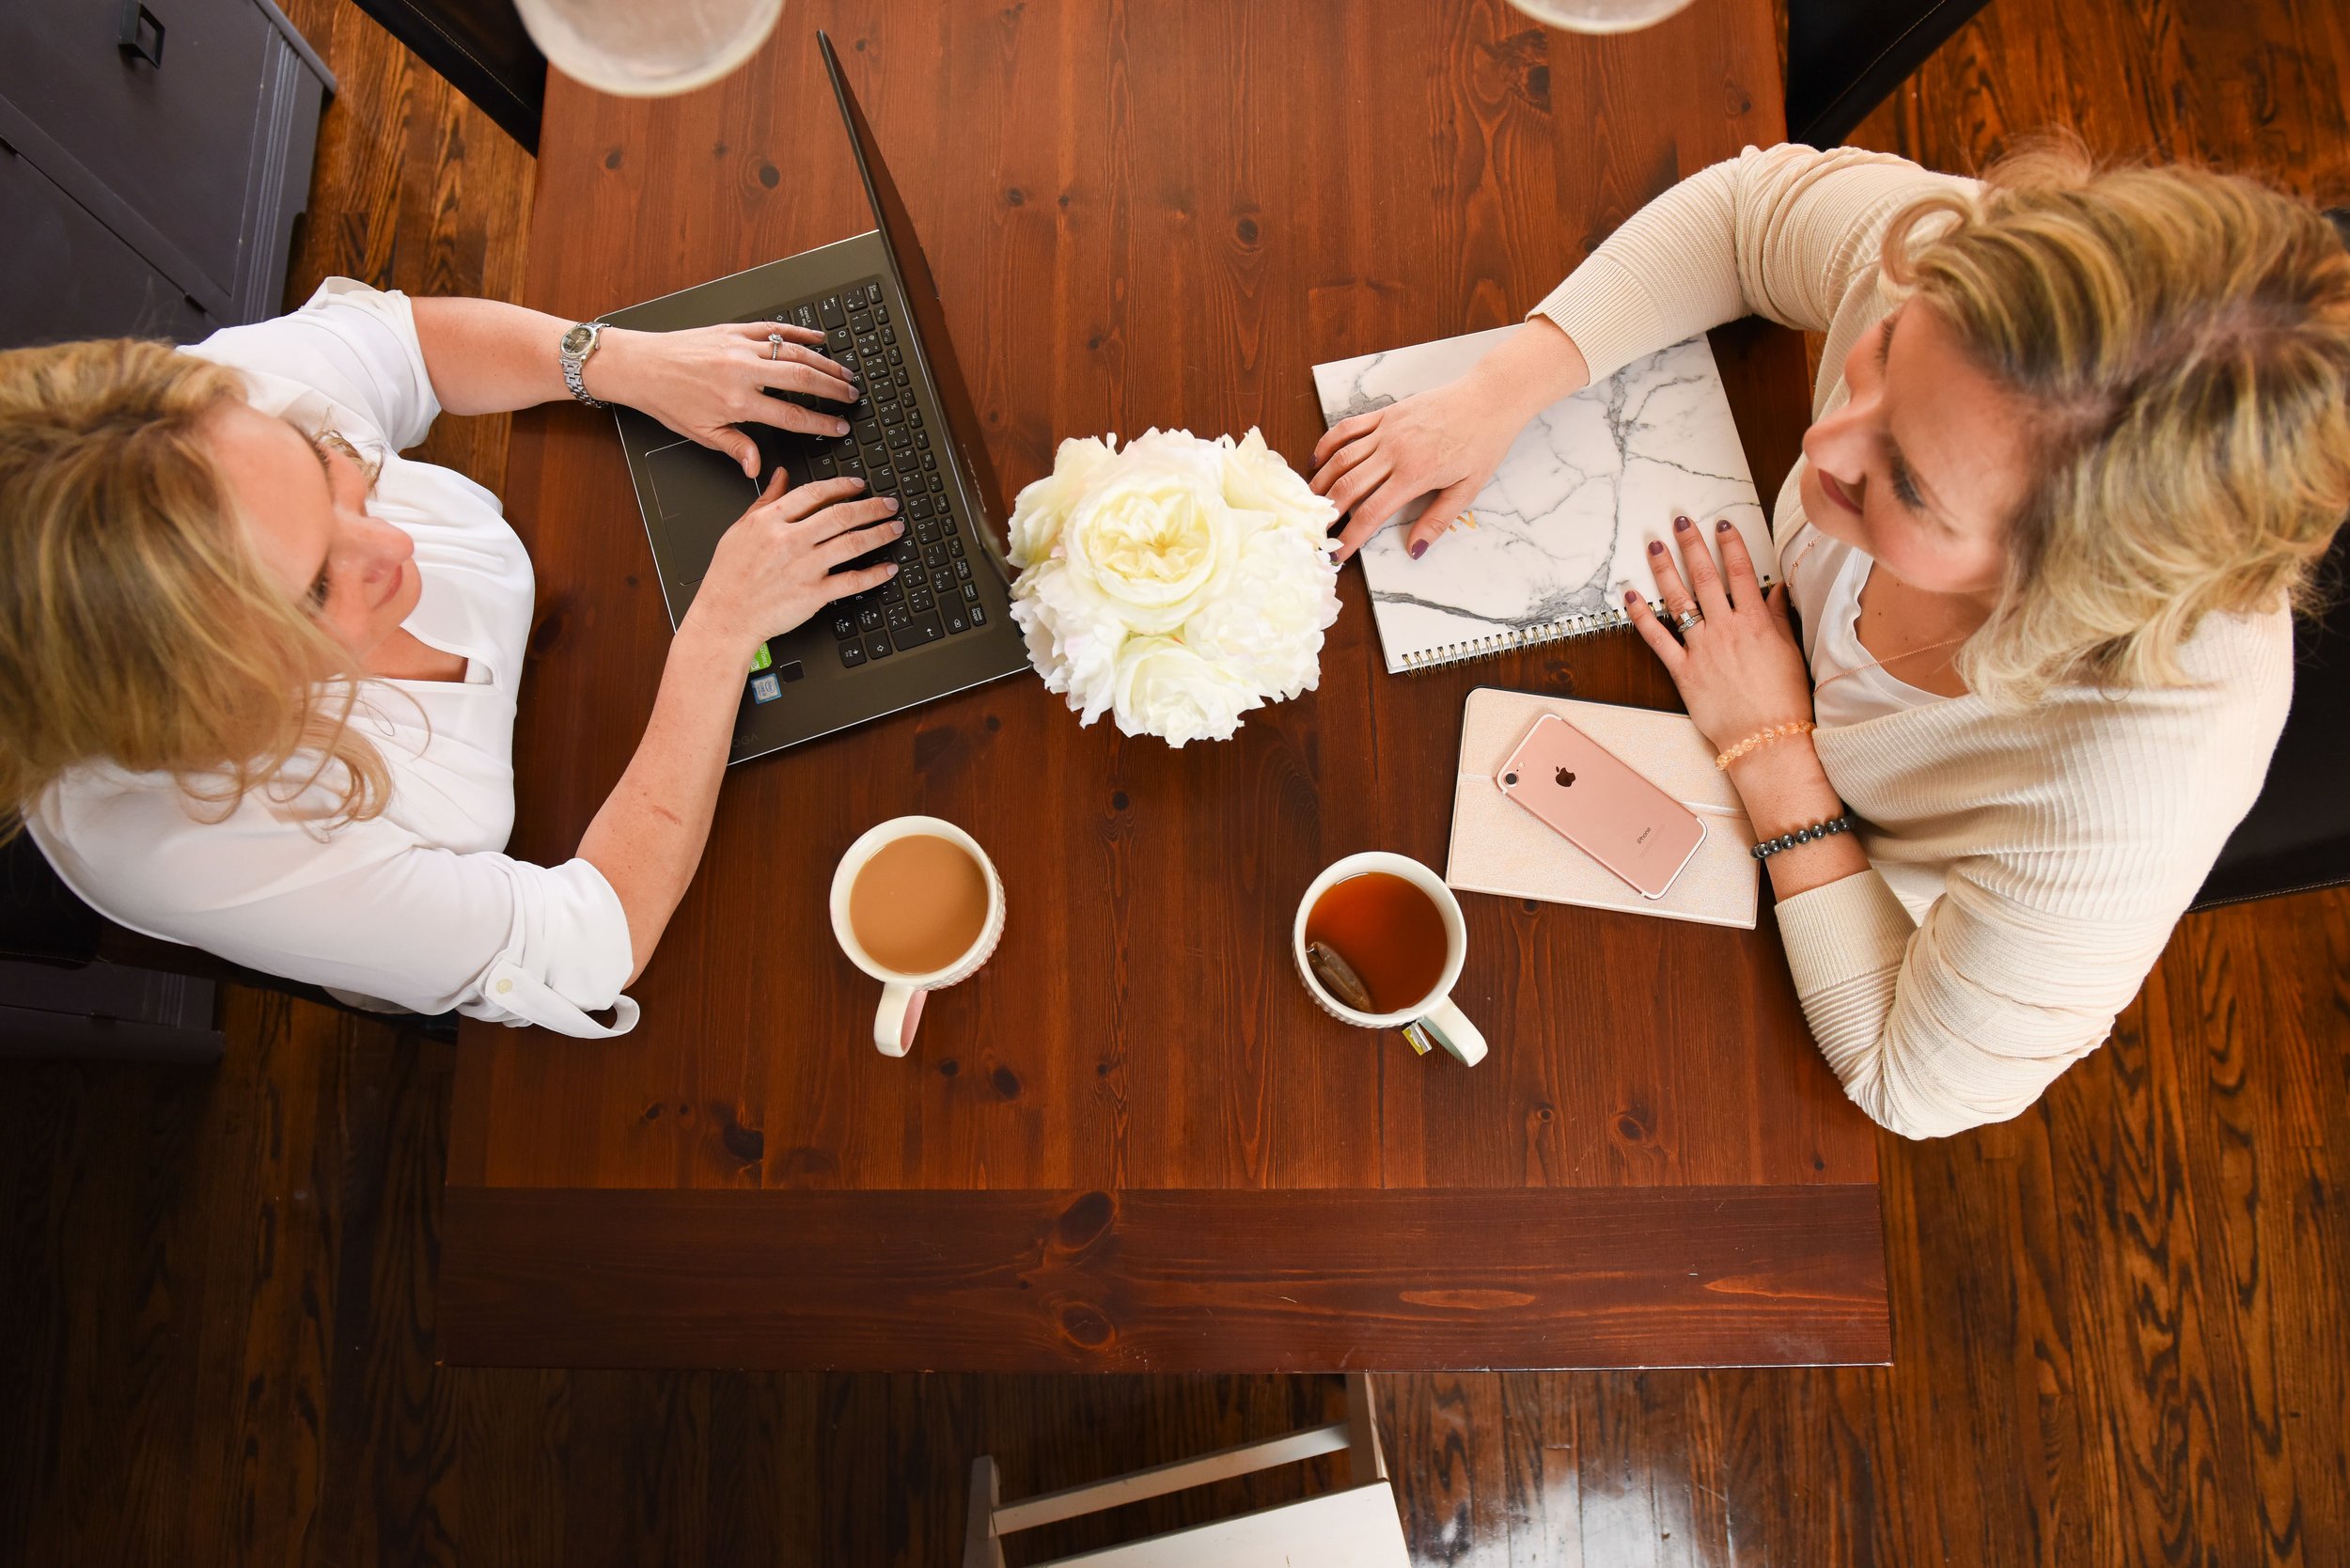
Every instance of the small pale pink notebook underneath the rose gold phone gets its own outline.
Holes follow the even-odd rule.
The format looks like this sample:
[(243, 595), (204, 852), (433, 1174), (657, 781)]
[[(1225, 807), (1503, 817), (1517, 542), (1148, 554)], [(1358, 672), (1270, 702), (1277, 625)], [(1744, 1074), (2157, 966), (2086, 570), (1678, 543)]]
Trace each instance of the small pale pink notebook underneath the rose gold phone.
[[(1429, 552), (1434, 555), (1434, 550)], [(1697, 846), (1664, 898), (1640, 898), (1612, 870), (1495, 788), (1492, 773), (1518, 750), (1546, 712), (1584, 731), (1652, 785), (1706, 823)], [(1713, 766), (1713, 748), (1687, 715), (1582, 703), (1478, 686), (1462, 708), (1462, 762), (1452, 780), (1452, 846), (1445, 884), (1464, 893), (1542, 898), (1586, 910), (1694, 919), (1706, 926), (1755, 929), (1762, 875), (1753, 858), (1753, 827), (1730, 776)]]

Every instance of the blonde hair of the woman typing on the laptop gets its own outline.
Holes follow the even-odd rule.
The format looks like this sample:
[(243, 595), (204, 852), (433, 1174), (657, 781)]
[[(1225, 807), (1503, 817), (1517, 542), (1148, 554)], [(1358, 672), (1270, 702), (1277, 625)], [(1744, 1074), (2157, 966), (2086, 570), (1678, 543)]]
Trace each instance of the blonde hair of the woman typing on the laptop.
[(242, 397), (164, 343), (0, 353), (0, 837), (101, 759), (219, 816), (310, 785), (329, 820), (383, 809), (350, 654), (270, 581), (204, 444)]

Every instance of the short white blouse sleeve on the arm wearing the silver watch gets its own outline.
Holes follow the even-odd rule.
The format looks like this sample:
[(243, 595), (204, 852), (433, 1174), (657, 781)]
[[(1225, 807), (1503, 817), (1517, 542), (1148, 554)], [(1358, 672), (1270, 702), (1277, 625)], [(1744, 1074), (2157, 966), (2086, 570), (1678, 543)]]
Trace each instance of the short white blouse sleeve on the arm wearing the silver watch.
[(329, 277), (301, 310), (223, 327), (188, 353), (298, 381), (362, 416), (395, 451), (423, 442), (439, 418), (409, 296), (352, 277)]

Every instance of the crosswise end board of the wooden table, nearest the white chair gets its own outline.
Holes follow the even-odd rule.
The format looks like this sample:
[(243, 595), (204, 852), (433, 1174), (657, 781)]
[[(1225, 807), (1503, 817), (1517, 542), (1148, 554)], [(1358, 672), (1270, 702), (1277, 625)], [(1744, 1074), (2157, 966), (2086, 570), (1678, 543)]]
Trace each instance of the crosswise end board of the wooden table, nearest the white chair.
[(1351, 1371), (1887, 1359), (1873, 1185), (451, 1187), (444, 1227), (461, 1363), (1328, 1371), (1332, 1324)]

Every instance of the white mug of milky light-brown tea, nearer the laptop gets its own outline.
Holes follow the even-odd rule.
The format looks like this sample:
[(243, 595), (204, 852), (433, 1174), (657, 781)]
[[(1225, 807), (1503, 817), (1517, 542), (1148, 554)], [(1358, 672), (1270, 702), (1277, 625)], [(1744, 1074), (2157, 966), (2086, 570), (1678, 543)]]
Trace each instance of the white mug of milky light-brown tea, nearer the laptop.
[(832, 872), (832, 936), (881, 983), (874, 1048), (905, 1056), (921, 1001), (968, 980), (1003, 938), (1003, 882), (978, 839), (935, 816), (898, 816)]

